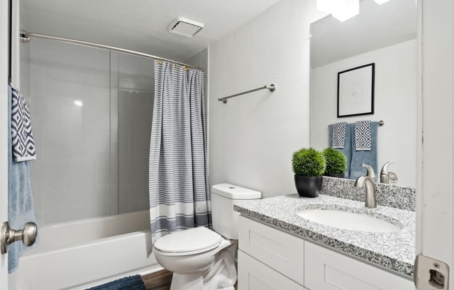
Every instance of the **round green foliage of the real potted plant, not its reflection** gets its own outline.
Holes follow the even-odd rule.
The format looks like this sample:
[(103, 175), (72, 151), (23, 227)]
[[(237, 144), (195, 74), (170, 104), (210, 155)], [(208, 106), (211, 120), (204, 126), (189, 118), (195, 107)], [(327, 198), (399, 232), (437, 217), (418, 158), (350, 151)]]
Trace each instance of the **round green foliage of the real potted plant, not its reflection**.
[(326, 162), (320, 151), (314, 148), (301, 148), (292, 155), (292, 168), (295, 175), (322, 176)]

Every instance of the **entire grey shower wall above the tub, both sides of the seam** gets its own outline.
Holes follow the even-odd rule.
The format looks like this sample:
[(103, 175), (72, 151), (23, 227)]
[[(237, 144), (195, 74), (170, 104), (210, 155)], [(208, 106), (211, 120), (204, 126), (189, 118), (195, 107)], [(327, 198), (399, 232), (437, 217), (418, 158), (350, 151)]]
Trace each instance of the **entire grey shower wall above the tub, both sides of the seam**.
[(38, 38), (29, 45), (22, 77), (29, 73), (40, 226), (147, 209), (152, 60)]

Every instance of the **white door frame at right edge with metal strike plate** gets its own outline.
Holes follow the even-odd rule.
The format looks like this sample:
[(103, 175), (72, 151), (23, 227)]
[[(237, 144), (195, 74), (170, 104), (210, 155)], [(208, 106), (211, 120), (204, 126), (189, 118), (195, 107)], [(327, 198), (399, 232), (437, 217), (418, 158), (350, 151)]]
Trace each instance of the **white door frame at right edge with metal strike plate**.
[(444, 261), (453, 280), (454, 4), (417, 3), (416, 254)]

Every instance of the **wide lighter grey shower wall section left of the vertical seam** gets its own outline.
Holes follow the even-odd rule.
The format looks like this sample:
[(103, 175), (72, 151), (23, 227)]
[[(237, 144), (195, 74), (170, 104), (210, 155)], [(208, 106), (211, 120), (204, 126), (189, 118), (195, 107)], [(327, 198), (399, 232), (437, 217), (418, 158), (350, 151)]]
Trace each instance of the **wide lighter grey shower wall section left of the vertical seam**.
[(105, 50), (30, 43), (33, 194), (42, 225), (110, 214), (109, 69)]

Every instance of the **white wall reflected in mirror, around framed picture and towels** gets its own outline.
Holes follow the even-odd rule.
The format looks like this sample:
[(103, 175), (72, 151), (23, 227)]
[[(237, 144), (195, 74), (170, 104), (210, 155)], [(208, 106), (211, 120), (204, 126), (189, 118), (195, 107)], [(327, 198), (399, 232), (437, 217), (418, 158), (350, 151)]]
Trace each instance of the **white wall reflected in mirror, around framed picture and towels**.
[[(389, 167), (399, 184), (416, 186), (416, 40), (314, 68), (311, 72), (311, 146), (328, 144), (328, 125), (384, 121), (378, 128), (378, 170)], [(375, 63), (375, 114), (337, 118), (338, 72)]]

